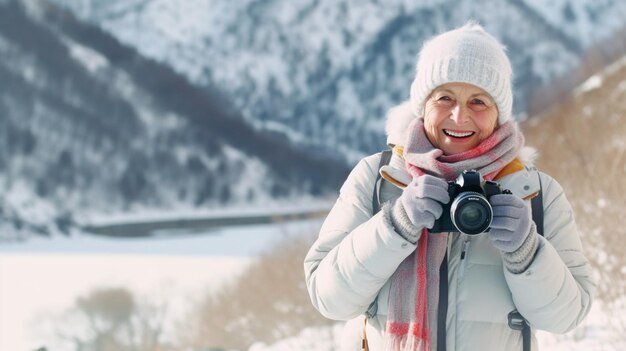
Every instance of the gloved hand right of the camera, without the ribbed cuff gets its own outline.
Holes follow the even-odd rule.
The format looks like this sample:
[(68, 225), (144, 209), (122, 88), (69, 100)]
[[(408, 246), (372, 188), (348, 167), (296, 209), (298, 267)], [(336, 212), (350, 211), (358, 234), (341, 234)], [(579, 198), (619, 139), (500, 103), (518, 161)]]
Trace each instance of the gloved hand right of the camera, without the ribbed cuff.
[(493, 245), (503, 252), (519, 249), (530, 234), (530, 207), (524, 200), (511, 194), (493, 195), (489, 203), (493, 209), (493, 221), (489, 231)]

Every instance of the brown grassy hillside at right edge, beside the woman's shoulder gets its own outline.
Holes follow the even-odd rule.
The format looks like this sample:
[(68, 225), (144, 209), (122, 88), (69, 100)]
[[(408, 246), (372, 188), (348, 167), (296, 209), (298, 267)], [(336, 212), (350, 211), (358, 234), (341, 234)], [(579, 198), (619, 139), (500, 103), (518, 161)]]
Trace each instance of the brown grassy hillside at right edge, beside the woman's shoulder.
[(585, 252), (602, 275), (600, 295), (626, 294), (626, 57), (523, 125), (538, 166), (572, 202)]

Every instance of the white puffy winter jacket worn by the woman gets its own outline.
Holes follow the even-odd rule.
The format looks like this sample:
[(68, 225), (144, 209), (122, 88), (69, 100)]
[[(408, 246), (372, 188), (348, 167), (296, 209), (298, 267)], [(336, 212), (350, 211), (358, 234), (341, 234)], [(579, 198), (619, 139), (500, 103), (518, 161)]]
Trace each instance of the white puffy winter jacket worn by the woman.
[[(370, 349), (382, 350), (389, 278), (416, 247), (394, 231), (382, 211), (372, 216), (379, 160), (380, 154), (366, 157), (351, 172), (304, 261), (313, 305), (327, 318), (352, 320), (346, 324), (345, 350), (360, 350), (363, 314), (374, 301), (377, 311), (368, 320), (367, 335)], [(539, 190), (537, 174), (523, 170), (499, 182), (525, 198)], [(521, 333), (507, 324), (514, 309), (533, 330), (554, 333), (572, 330), (587, 315), (595, 284), (572, 208), (561, 186), (539, 174), (545, 236), (526, 271), (513, 274), (504, 268), (486, 234), (449, 234), (448, 350), (522, 350)], [(393, 201), (400, 193), (384, 182), (381, 201)], [(537, 349), (534, 336), (532, 349)]]

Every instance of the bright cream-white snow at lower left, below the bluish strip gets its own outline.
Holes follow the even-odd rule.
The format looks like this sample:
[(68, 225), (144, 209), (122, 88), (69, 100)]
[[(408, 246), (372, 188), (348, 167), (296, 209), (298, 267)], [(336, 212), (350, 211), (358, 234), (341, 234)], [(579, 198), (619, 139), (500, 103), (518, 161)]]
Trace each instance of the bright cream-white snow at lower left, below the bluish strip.
[[(207, 288), (236, 277), (243, 256), (95, 253), (0, 255), (0, 350), (60, 350), (39, 322), (60, 315), (97, 287), (123, 287), (150, 300), (167, 299), (173, 315)], [(39, 322), (38, 322), (39, 321)], [(45, 324), (45, 323), (44, 323)], [(69, 351), (69, 350), (68, 350)]]

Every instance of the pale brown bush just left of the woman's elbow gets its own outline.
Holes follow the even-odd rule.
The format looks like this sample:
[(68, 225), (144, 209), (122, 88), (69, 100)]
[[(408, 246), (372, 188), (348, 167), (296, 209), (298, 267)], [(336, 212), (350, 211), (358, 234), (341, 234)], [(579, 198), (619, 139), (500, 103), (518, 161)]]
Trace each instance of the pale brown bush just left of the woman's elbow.
[(183, 345), (245, 350), (306, 327), (332, 325), (309, 299), (302, 260), (312, 238), (287, 239), (259, 257), (237, 280), (193, 306), (180, 326)]

